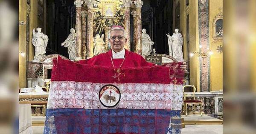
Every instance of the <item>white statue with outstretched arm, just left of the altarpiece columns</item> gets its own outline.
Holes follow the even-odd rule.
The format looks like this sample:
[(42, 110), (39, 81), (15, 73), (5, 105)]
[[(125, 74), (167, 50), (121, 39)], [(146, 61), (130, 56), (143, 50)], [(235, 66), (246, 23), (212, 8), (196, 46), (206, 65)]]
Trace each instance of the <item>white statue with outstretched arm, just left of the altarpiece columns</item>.
[(61, 43), (61, 46), (67, 48), (67, 53), (69, 55), (70, 60), (75, 60), (76, 58), (76, 33), (75, 29), (70, 29), (70, 34), (64, 43)]

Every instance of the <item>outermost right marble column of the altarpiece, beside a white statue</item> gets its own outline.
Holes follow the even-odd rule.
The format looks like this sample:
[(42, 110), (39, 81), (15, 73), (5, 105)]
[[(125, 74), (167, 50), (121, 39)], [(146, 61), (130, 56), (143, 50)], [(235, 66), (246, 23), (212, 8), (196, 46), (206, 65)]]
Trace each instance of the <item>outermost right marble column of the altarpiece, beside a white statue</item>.
[(134, 4), (136, 6), (136, 34), (135, 37), (137, 37), (136, 40), (136, 53), (142, 55), (142, 44), (141, 44), (141, 33), (142, 33), (142, 26), (141, 26), (141, 7), (143, 5), (142, 0), (136, 0), (134, 1)]

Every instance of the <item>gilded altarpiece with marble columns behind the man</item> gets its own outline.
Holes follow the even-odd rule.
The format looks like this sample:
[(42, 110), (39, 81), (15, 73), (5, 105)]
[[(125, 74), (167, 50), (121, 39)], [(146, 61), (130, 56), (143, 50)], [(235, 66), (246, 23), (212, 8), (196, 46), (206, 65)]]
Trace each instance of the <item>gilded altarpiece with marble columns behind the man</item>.
[[(94, 56), (96, 34), (104, 37), (105, 51), (110, 49), (108, 32), (111, 26), (122, 26), (128, 42), (125, 48), (142, 55), (142, 0), (75, 0), (76, 59)], [(130, 14), (133, 14), (133, 47), (131, 48)]]

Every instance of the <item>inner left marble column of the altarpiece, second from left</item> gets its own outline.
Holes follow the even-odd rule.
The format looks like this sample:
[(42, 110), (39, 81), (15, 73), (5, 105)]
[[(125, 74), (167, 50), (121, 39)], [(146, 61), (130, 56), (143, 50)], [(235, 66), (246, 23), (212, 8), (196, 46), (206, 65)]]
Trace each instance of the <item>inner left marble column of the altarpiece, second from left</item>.
[(87, 5), (87, 58), (93, 57), (93, 3), (94, 0), (84, 0)]

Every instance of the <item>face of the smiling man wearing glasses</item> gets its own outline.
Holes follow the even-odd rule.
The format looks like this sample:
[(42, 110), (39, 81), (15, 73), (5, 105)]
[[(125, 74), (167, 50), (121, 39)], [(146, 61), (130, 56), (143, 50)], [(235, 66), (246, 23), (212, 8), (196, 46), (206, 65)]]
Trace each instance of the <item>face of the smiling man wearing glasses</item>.
[[(123, 37), (122, 39), (119, 39)], [(111, 47), (115, 52), (122, 51), (127, 42), (127, 39), (124, 37), (124, 32), (121, 30), (113, 30), (110, 33), (110, 39), (108, 40)]]

